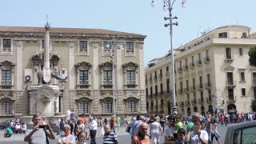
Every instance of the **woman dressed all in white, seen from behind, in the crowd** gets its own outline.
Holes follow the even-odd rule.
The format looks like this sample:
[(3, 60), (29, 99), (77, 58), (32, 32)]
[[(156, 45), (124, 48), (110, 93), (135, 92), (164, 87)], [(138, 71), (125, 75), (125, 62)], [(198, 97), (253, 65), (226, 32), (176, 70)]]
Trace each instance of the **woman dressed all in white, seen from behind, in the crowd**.
[(159, 144), (160, 134), (162, 135), (162, 127), (158, 122), (158, 118), (153, 118), (153, 121), (154, 122), (151, 123), (151, 127), (150, 127), (150, 136), (154, 144)]

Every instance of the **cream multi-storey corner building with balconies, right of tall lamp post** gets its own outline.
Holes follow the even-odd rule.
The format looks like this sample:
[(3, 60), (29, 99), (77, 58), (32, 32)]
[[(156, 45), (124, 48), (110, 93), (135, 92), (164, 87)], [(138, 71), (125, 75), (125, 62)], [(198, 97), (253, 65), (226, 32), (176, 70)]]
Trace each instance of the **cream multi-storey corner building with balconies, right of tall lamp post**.
[[(248, 52), (256, 46), (247, 26), (222, 26), (174, 50), (179, 114), (245, 113), (256, 98), (256, 68)], [(170, 54), (146, 68), (146, 110), (171, 114)]]

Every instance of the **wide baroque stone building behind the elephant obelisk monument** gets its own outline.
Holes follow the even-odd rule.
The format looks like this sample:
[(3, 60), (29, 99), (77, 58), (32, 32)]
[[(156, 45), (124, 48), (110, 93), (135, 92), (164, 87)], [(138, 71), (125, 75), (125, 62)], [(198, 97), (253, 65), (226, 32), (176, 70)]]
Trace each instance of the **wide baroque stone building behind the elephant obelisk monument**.
[[(39, 74), (45, 36), (43, 27), (0, 26), (0, 117), (33, 114), (33, 87), (45, 85), (38, 90), (47, 98)], [(50, 28), (50, 70), (63, 77), (48, 83), (61, 92), (54, 110), (110, 115), (115, 102), (116, 114), (146, 114), (145, 38), (114, 30)]]

